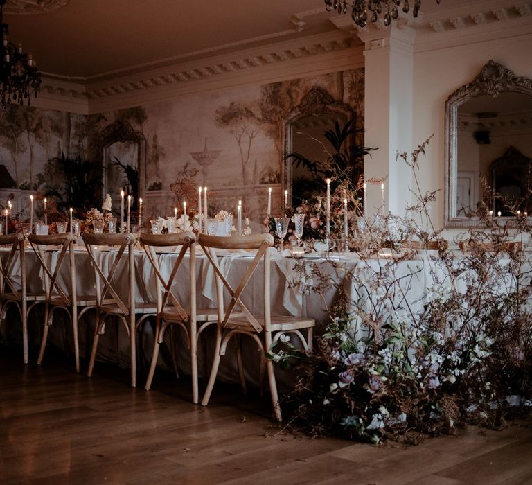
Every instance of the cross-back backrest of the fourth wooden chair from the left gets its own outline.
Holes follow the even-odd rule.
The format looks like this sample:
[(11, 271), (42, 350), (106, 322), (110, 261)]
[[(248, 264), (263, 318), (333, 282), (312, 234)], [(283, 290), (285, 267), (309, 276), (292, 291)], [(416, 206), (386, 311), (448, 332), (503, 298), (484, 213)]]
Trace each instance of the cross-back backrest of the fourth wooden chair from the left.
[[(155, 272), (155, 279), (157, 281), (157, 311), (161, 312), (168, 303), (171, 304), (179, 315), (186, 320), (188, 315), (184, 310), (181, 303), (179, 303), (177, 297), (172, 292), (172, 284), (174, 283), (175, 275), (181, 266), (183, 258), (190, 249), (190, 318), (196, 319), (196, 270), (195, 270), (195, 257), (196, 257), (196, 237), (191, 232), (181, 232), (174, 234), (144, 234), (140, 236), (141, 245), (144, 248), (146, 256), (150, 261), (152, 268)], [(157, 253), (168, 253), (172, 251), (173, 247), (180, 247), (177, 258), (172, 265), (170, 274), (163, 274), (159, 257)]]

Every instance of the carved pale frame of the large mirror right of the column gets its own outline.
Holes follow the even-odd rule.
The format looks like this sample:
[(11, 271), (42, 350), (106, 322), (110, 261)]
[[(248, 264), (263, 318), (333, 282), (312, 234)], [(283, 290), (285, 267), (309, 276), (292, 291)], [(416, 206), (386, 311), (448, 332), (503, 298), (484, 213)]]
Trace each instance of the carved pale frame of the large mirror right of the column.
[(471, 98), (486, 94), (495, 98), (503, 91), (532, 96), (532, 80), (517, 77), (510, 69), (490, 60), (472, 82), (456, 89), (445, 102), (445, 227), (481, 225), (478, 218), (456, 215), (458, 109)]

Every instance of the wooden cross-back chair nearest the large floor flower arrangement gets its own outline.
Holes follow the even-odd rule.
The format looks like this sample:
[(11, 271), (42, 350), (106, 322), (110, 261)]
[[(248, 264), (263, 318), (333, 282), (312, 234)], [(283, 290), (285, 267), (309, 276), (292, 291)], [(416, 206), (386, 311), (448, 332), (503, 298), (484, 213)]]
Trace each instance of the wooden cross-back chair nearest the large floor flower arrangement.
[[(258, 344), (261, 352), (261, 359), (266, 360), (266, 369), (269, 382), (269, 390), (272, 396), (274, 414), (278, 421), (281, 421), (281, 407), (278, 402), (277, 385), (274, 374), (274, 365), (272, 360), (266, 359), (265, 355), (271, 348), (272, 342), (277, 342), (279, 337), (285, 333), (294, 333), (299, 337), (303, 347), (306, 350), (312, 349), (312, 328), (314, 319), (304, 317), (292, 317), (290, 315), (272, 315), (270, 307), (270, 257), (269, 248), (274, 245), (274, 238), (269, 234), (260, 234), (258, 236), (242, 237), (220, 237), (199, 235), (199, 244), (204, 249), (207, 258), (213, 265), (216, 274), (217, 299), (218, 299), (218, 327), (216, 334), (216, 354), (213, 359), (211, 376), (202, 400), (202, 405), (209, 403), (211, 392), (213, 390), (220, 357), (225, 354), (227, 344), (231, 338), (238, 335), (249, 335)], [(222, 274), (218, 264), (217, 249), (251, 249), (256, 250), (251, 263), (248, 265), (246, 272), (240, 277), (238, 284), (233, 287), (229, 279)], [(258, 271), (260, 262), (263, 262), (261, 272), (264, 283), (264, 314), (253, 315), (253, 312), (242, 302), (242, 294), (247, 285), (252, 280), (252, 276)], [(224, 310), (224, 291), (229, 293), (229, 304)], [(236, 314), (236, 312), (239, 312)], [(306, 337), (301, 330), (307, 330)]]

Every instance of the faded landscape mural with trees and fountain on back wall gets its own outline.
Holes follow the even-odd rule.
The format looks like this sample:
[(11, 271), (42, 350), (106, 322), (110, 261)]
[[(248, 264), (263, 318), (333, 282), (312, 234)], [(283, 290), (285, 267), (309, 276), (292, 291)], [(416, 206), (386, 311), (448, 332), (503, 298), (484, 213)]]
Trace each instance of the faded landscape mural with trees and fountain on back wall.
[(44, 197), (60, 188), (64, 181), (50, 160), (64, 155), (87, 160), (100, 173), (91, 201), (98, 208), (107, 191), (118, 210), (120, 188), (131, 185), (136, 173), (135, 198), (143, 197), (148, 216), (170, 215), (174, 206), (180, 211), (184, 200), (194, 208), (195, 186), (202, 185), (209, 187), (211, 213), (235, 212), (242, 199), (242, 212), (258, 223), (269, 186), (274, 205), (281, 204), (283, 121), (312, 87), (351, 105), (363, 124), (363, 69), (91, 116), (8, 107), (0, 113), (0, 173), (3, 165), (12, 183), (2, 185), (3, 179), (9, 185), (2, 177), (0, 206), (7, 197), (21, 198), (14, 211), (24, 213), (30, 191)]

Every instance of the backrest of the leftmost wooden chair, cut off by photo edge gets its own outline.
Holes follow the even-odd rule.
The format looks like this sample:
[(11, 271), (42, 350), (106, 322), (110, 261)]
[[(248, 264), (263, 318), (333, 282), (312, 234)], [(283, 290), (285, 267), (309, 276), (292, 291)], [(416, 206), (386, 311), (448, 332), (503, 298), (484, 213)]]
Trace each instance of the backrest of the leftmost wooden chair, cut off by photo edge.
[[(0, 235), (0, 245), (5, 247), (10, 246), (8, 257), (4, 259), (0, 258), (0, 298), (6, 293), (12, 294), (17, 300), (26, 298), (24, 236), (21, 233), (9, 234), (7, 236)], [(18, 274), (14, 274), (17, 258), (20, 261), (20, 289), (17, 282), (13, 279), (15, 276), (18, 276)]]

